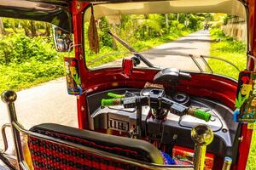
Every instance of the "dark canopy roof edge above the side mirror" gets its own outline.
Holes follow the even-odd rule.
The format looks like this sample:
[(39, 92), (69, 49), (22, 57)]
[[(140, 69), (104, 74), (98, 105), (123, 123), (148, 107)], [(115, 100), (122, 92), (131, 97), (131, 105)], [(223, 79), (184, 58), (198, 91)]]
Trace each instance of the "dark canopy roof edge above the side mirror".
[(45, 21), (72, 31), (67, 5), (64, 0), (0, 0), (0, 17)]

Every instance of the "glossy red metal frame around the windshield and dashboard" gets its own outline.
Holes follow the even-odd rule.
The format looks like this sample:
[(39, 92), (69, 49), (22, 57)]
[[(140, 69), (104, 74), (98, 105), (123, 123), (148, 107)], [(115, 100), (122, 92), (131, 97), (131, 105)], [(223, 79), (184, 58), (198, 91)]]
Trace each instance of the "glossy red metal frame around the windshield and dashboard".
[[(125, 1), (124, 1), (125, 2)], [(130, 2), (130, 1), (129, 1)], [(135, 2), (137, 2), (135, 0)], [(118, 3), (118, 2), (115, 2)], [(248, 25), (248, 57), (247, 70), (254, 71), (254, 58), (256, 56), (256, 2), (254, 0), (242, 1), (247, 9)], [(84, 54), (84, 11), (89, 8), (90, 2), (73, 0), (69, 3), (69, 12), (72, 14), (72, 25), (75, 58), (79, 60), (79, 72), (82, 82), (83, 94), (77, 97), (79, 128), (89, 129), (89, 113), (86, 96), (102, 90), (131, 87), (143, 88), (145, 82), (152, 82), (154, 75), (158, 72), (155, 69), (133, 69), (129, 79), (123, 76), (123, 68), (108, 68), (97, 71), (90, 71), (85, 65)], [(191, 73), (191, 81), (182, 81), (175, 88), (190, 95), (204, 96), (218, 99), (230, 108), (235, 109), (237, 83), (226, 77), (219, 77), (204, 73)], [(93, 78), (93, 82), (90, 81)], [(114, 83), (113, 83), (114, 82)], [(241, 127), (241, 140), (239, 144), (239, 158), (234, 169), (245, 169), (247, 156), (250, 150), (253, 130), (247, 128), (246, 124)]]

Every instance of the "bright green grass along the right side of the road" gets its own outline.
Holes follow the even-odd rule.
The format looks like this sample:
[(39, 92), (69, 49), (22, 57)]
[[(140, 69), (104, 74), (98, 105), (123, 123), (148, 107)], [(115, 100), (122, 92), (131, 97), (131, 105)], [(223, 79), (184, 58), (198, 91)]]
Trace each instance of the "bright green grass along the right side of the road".
[[(234, 63), (242, 71), (246, 68), (246, 45), (243, 42), (238, 42), (231, 37), (226, 37), (222, 31), (213, 28), (211, 30), (211, 56), (227, 59)], [(239, 72), (231, 68), (229, 64), (218, 61), (216, 59), (208, 59), (214, 72), (238, 79)], [(255, 126), (254, 126), (255, 128)], [(254, 170), (256, 164), (256, 132), (253, 131), (253, 138), (250, 148), (250, 153), (247, 161), (247, 170)]]

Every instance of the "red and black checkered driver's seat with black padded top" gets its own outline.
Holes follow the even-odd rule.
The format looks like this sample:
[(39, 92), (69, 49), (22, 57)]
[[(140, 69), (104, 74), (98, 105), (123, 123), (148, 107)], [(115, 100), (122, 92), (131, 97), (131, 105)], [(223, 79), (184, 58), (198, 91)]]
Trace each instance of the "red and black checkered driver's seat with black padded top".
[[(61, 141), (102, 150), (132, 160), (163, 164), (160, 151), (154, 145), (138, 139), (129, 139), (53, 123), (40, 124), (30, 129), (33, 133)], [(51, 142), (37, 136), (28, 137), (32, 164), (37, 169), (144, 169), (108, 156), (99, 156), (86, 150)]]

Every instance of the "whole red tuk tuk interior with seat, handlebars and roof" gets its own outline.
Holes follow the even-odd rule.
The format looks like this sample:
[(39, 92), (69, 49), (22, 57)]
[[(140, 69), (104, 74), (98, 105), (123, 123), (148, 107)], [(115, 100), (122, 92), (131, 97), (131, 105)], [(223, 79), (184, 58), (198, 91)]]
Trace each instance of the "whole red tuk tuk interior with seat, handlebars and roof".
[[(254, 0), (0, 0), (1, 17), (49, 22), (54, 25), (56, 50), (74, 50), (75, 57), (63, 62), (67, 92), (77, 96), (79, 122), (79, 128), (44, 123), (25, 129), (15, 113), (17, 95), (3, 92), (10, 122), (2, 127), (5, 147), (0, 159), (5, 165), (0, 169), (245, 169), (256, 120), (255, 9)], [(204, 54), (184, 56), (199, 71), (152, 64), (147, 53), (137, 52), (111, 31), (108, 35), (129, 54), (117, 54), (122, 56), (119, 64), (92, 68), (97, 60), (88, 62), (86, 46), (95, 53), (99, 50), (97, 20), (169, 13), (224, 13), (244, 18), (247, 67), (238, 81), (215, 74), (207, 64), (211, 57)], [(85, 22), (88, 32), (84, 32)], [(245, 86), (250, 90), (237, 106)], [(11, 128), (15, 157), (5, 152), (6, 127)], [(26, 147), (20, 135), (26, 136)]]

